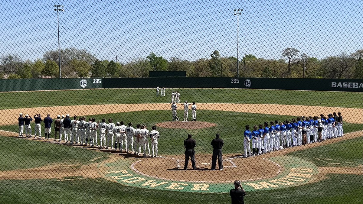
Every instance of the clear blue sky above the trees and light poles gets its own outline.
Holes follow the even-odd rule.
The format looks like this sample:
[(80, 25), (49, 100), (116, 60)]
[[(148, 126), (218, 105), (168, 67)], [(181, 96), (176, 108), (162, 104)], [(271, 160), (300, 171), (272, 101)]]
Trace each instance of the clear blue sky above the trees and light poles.
[(208, 58), (213, 50), (278, 59), (293, 47), (325, 58), (363, 49), (362, 1), (59, 1), (3, 0), (0, 4), (0, 56), (42, 58), (61, 48), (86, 49), (99, 59), (128, 62), (155, 52), (166, 59)]

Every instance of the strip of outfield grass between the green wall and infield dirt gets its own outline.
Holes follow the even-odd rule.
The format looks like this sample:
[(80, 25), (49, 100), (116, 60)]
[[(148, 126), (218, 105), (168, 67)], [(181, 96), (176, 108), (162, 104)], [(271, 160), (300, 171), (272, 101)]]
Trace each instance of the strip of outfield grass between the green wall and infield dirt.
[(260, 103), (361, 108), (363, 98), (363, 93), (339, 91), (167, 89), (165, 97), (156, 97), (155, 89), (59, 90), (0, 93), (0, 109), (87, 104), (166, 103), (171, 101), (172, 91), (180, 92), (181, 102), (188, 100), (197, 103)]

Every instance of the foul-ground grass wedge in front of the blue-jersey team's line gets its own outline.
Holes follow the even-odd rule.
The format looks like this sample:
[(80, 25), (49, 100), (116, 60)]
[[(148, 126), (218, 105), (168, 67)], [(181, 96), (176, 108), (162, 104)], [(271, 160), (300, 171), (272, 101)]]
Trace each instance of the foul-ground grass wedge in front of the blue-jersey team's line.
[(290, 152), (296, 156), (323, 167), (356, 167), (363, 165), (363, 137), (337, 143)]

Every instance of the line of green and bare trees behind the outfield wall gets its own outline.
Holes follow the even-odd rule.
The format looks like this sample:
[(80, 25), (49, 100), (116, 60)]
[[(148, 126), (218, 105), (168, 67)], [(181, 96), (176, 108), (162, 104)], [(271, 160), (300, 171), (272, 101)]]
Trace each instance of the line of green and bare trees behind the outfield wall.
[[(0, 58), (0, 78), (57, 78), (59, 77), (58, 50), (44, 53), (42, 59), (23, 60), (16, 54)], [(304, 70), (305, 67), (305, 70)], [(122, 64), (100, 60), (87, 50), (61, 50), (62, 77), (148, 77), (149, 71), (186, 71), (187, 77), (237, 77), (237, 58), (222, 57), (218, 50), (209, 58), (195, 61), (172, 57), (166, 60), (151, 52)], [(239, 62), (240, 77), (265, 78), (363, 78), (363, 49), (318, 59), (286, 48), (278, 60), (245, 55)]]

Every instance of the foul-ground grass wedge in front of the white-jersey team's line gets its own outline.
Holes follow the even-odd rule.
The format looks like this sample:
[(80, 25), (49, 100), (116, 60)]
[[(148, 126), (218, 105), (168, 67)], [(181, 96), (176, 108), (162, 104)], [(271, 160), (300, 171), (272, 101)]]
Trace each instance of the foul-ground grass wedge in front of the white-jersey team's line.
[(106, 159), (108, 155), (83, 148), (4, 136), (0, 136), (0, 144), (0, 171), (34, 168), (50, 163), (88, 164), (100, 162), (92, 159)]

